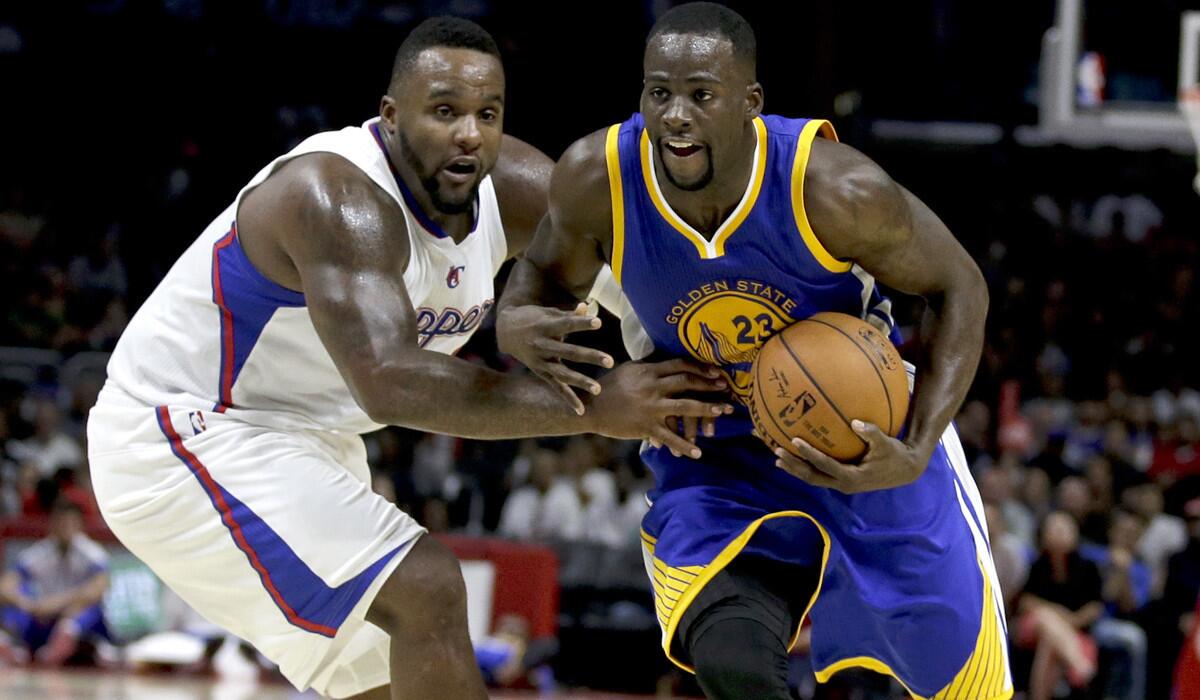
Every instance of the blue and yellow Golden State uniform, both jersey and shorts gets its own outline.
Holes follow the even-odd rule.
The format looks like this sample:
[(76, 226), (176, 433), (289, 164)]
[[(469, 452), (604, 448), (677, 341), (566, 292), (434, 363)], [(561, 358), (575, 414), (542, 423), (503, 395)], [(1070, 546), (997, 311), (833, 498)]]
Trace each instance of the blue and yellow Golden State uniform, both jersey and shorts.
[[(833, 127), (762, 116), (754, 128), (745, 195), (710, 238), (662, 196), (640, 114), (612, 126), (606, 142), (613, 279), (660, 355), (720, 367), (740, 399), (763, 341), (814, 313), (860, 317), (899, 341), (875, 280), (834, 258), (805, 215), (812, 142), (836, 138)], [(716, 427), (714, 438), (697, 438), (700, 460), (642, 453), (655, 477), (642, 539), (668, 658), (689, 669), (673, 647), (683, 612), (749, 554), (818, 567), (805, 611), (818, 680), (864, 666), (914, 698), (1010, 696), (1002, 598), (953, 427), (916, 481), (856, 495), (775, 467), (742, 407)]]

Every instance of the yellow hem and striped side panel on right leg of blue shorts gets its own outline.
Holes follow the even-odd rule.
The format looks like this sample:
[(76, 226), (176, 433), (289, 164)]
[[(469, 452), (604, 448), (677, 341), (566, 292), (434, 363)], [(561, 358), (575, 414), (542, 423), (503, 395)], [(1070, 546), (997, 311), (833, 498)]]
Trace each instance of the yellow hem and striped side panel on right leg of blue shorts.
[(1013, 688), (1008, 678), (1007, 654), (1004, 651), (1004, 632), (1000, 624), (1000, 612), (992, 593), (991, 582), (984, 570), (983, 562), (979, 573), (983, 576), (983, 610), (979, 616), (979, 634), (976, 646), (966, 663), (944, 688), (931, 698), (918, 695), (892, 670), (892, 666), (875, 657), (851, 657), (829, 664), (814, 671), (818, 683), (826, 683), (838, 671), (850, 668), (863, 668), (892, 676), (913, 700), (1008, 700)]

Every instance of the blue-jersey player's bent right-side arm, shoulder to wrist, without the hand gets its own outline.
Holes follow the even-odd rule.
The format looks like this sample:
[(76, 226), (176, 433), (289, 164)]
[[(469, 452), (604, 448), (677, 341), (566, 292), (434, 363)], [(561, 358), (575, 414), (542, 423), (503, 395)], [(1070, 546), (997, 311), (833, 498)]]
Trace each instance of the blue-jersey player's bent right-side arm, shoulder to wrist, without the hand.
[(830, 255), (928, 304), (926, 357), (905, 439), (924, 468), (979, 364), (988, 312), (983, 275), (929, 207), (850, 146), (816, 139), (804, 201)]

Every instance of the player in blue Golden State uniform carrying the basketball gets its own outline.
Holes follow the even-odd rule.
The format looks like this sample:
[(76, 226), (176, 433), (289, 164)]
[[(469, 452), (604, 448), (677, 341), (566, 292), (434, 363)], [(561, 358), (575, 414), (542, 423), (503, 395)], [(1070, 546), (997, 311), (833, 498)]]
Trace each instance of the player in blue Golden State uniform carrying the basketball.
[(932, 313), (904, 437), (856, 421), (868, 448), (858, 463), (799, 442), (804, 459), (772, 454), (744, 409), (715, 430), (686, 421), (698, 460), (643, 449), (656, 481), (643, 543), (664, 651), (710, 699), (782, 700), (808, 617), (822, 682), (860, 666), (913, 698), (1009, 698), (983, 509), (949, 426), (980, 353), (979, 270), (828, 122), (761, 114), (755, 38), (737, 13), (708, 2), (668, 11), (643, 68), (640, 113), (557, 164), (548, 216), (502, 299), (502, 349), (559, 390), (586, 385), (540, 329), (546, 306), (595, 289), (626, 311), (628, 348), (715, 365), (744, 397), (757, 347), (818, 311), (896, 340), (876, 279), (924, 297)]

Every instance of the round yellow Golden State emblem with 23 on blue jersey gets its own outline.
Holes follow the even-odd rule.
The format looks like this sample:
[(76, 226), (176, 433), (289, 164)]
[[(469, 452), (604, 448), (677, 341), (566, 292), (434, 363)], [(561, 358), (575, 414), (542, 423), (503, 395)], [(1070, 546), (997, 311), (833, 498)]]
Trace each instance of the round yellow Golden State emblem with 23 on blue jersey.
[(716, 365), (734, 394), (750, 394), (750, 366), (758, 347), (792, 323), (796, 301), (769, 285), (721, 280), (680, 299), (667, 315), (679, 342), (703, 363)]

